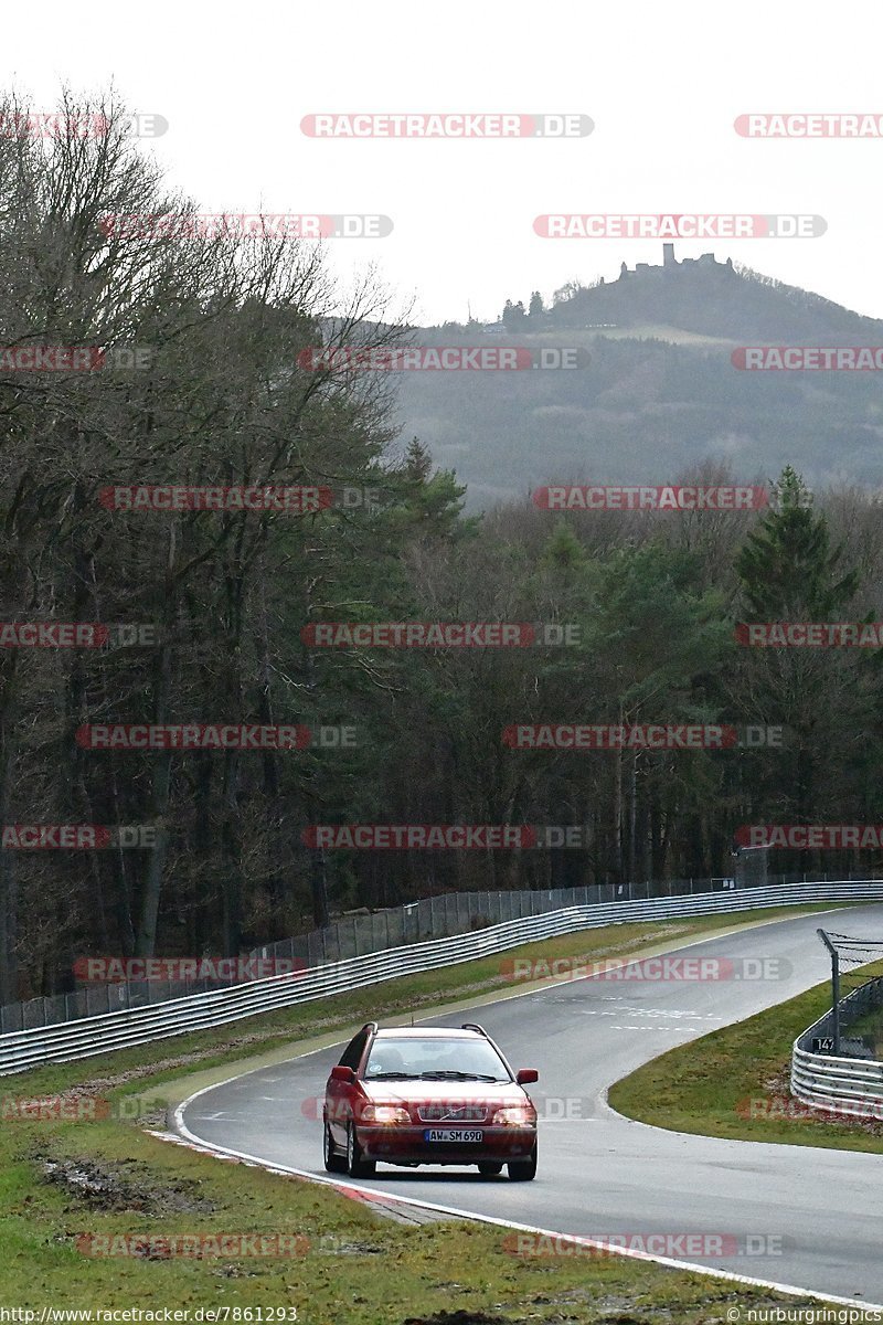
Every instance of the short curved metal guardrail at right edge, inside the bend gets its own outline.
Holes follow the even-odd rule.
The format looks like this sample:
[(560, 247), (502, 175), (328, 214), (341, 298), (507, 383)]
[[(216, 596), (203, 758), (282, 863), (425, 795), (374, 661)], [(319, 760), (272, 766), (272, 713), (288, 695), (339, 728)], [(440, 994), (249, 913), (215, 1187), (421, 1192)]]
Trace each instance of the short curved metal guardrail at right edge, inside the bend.
[[(868, 980), (841, 999), (841, 1023), (846, 1027), (867, 1007), (883, 1002), (883, 979)], [(792, 1094), (813, 1109), (855, 1117), (883, 1117), (883, 1063), (872, 1059), (834, 1057), (813, 1053), (814, 1036), (831, 1032), (826, 1012), (794, 1040), (792, 1049)]]

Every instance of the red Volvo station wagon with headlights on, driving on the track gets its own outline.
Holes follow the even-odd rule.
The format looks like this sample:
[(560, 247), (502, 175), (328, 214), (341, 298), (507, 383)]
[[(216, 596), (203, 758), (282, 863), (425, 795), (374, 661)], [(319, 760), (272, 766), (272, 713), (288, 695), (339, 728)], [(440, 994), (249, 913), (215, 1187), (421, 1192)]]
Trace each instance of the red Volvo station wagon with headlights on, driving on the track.
[(326, 1084), (322, 1114), (328, 1173), (373, 1177), (377, 1161), (478, 1165), (536, 1174), (536, 1109), (524, 1085), (534, 1068), (512, 1072), (481, 1026), (379, 1030), (363, 1026)]

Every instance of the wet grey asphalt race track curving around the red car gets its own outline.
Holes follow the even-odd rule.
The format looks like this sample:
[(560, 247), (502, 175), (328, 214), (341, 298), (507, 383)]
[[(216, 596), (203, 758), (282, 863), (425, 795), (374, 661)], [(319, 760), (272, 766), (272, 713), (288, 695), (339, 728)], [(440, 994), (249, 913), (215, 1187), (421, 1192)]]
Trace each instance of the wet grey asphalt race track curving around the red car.
[[(773, 979), (576, 979), (473, 1014), (421, 1018), (434, 1026), (478, 1020), (514, 1068), (539, 1068), (540, 1081), (530, 1086), (541, 1120), (536, 1179), (381, 1165), (359, 1186), (563, 1234), (703, 1234), (699, 1255), (695, 1246), (694, 1253), (679, 1253), (676, 1240), (666, 1243), (667, 1255), (883, 1302), (883, 1155), (669, 1133), (622, 1118), (604, 1102), (609, 1085), (665, 1049), (823, 980), (819, 925), (880, 938), (883, 905), (777, 921), (683, 950), (778, 959)], [(185, 1105), (184, 1125), (212, 1145), (327, 1177), (320, 1098), (340, 1052), (213, 1086)], [(715, 1236), (725, 1242), (715, 1244)], [(725, 1253), (712, 1255), (716, 1246)]]

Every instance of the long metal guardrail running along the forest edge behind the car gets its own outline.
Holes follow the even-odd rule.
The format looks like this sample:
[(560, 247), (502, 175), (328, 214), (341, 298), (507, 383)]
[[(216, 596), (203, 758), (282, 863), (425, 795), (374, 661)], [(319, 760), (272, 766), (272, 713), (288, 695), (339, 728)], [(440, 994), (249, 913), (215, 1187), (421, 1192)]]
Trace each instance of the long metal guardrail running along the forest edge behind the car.
[(541, 916), (491, 925), (470, 934), (412, 943), (332, 962), (291, 975), (275, 975), (233, 988), (195, 994), (150, 1007), (36, 1027), (0, 1035), (0, 1076), (41, 1063), (66, 1063), (131, 1048), (189, 1031), (226, 1026), (295, 1003), (328, 998), (400, 975), (420, 974), (458, 962), (504, 953), (522, 943), (581, 929), (627, 921), (674, 920), (683, 916), (727, 914), (763, 906), (800, 906), (817, 901), (883, 901), (883, 881), (851, 880), (823, 884), (781, 884), (715, 894), (655, 897), (649, 901), (569, 906)]

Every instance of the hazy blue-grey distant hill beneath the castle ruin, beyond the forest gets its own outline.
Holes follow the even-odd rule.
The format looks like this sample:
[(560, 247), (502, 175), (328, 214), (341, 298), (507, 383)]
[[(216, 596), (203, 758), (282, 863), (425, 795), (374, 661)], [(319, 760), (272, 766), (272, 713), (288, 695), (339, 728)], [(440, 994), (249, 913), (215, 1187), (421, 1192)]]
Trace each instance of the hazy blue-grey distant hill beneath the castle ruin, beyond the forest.
[(665, 481), (707, 458), (745, 481), (883, 485), (883, 372), (744, 372), (740, 344), (883, 346), (883, 321), (711, 254), (622, 265), (532, 317), (416, 329), (417, 344), (579, 347), (572, 371), (402, 372), (402, 437), (469, 485), (471, 509), (553, 481)]

